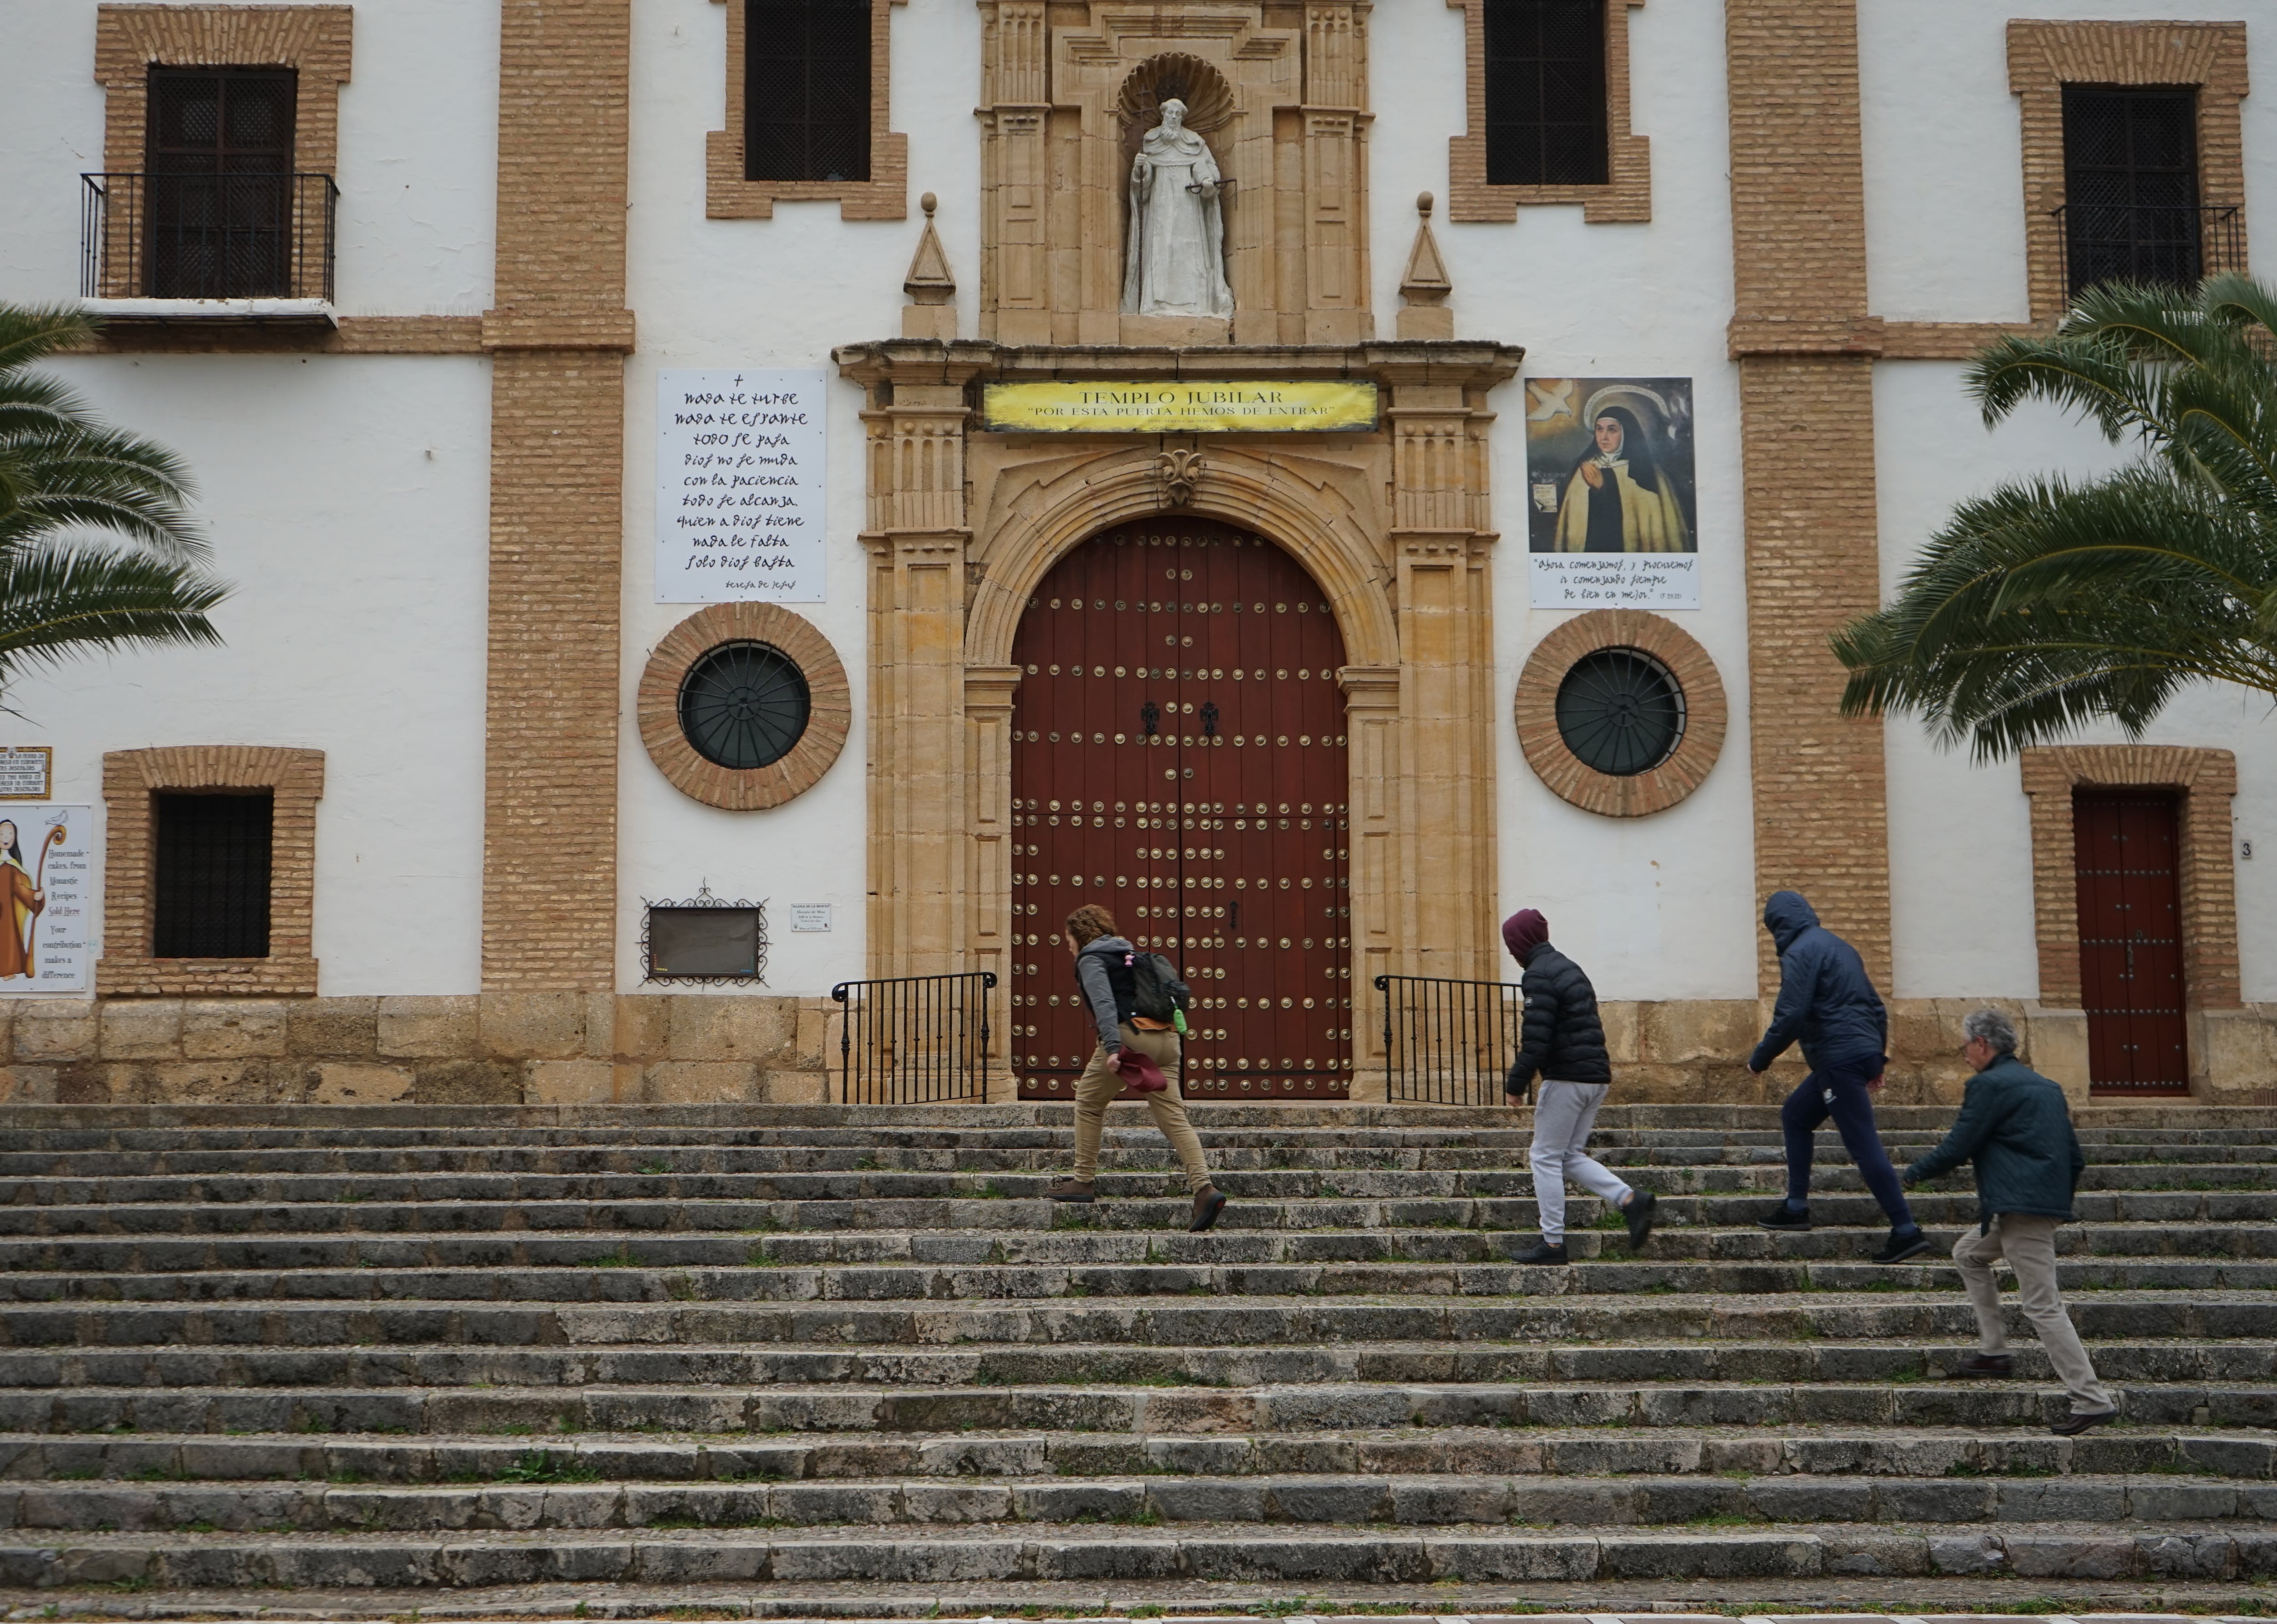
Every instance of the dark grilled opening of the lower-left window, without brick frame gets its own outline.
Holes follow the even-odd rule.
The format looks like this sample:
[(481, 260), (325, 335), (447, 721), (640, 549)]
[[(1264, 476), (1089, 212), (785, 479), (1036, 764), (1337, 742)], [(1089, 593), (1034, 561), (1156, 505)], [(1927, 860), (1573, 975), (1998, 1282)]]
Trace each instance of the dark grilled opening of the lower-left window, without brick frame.
[(269, 957), (269, 790), (153, 795), (155, 959)]

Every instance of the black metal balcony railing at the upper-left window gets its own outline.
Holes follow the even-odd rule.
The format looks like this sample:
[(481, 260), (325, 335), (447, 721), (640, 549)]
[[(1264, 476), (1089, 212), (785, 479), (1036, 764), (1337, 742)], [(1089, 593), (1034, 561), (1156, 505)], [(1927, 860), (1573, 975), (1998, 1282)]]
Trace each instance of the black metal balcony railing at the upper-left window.
[(339, 187), (314, 173), (80, 175), (87, 298), (332, 298)]

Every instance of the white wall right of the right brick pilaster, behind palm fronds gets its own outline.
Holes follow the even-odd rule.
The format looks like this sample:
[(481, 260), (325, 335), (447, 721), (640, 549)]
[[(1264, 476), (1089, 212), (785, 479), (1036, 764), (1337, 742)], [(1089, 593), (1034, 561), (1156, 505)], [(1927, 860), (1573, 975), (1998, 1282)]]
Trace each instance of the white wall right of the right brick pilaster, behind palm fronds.
[[(2252, 7), (2188, 0), (2068, 0), (1983, 7), (1974, 0), (1863, 0), (1867, 251), (1874, 310), (1908, 321), (2022, 321), (2024, 184), (2017, 102), (2008, 93), (2008, 16), (2247, 18), (2250, 73), (2277, 84), (2277, 27)], [(2277, 221), (2277, 98), (2247, 96), (2245, 212)], [(2227, 200), (2227, 198), (2225, 198)], [(1874, 376), (1883, 590), (1894, 592), (1951, 506), (2033, 471), (2086, 476), (2115, 451), (2049, 410), (1981, 424), (1954, 362), (1883, 362)], [(2015, 763), (1974, 765), (1892, 722), (1890, 879), (1897, 991), (1906, 998), (2033, 998), (2040, 970), (2031, 913), (2029, 802)], [(2079, 736), (2118, 743), (2115, 729)], [(2277, 720), (2238, 690), (2188, 690), (2147, 733), (2154, 745), (2238, 754), (2238, 932), (2247, 1000), (2277, 998)]]

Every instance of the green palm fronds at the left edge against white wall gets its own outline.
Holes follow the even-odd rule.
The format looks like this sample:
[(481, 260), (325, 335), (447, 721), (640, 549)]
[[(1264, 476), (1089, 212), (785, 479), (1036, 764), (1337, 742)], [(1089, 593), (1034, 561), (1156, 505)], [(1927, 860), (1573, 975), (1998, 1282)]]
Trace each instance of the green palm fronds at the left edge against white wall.
[(228, 588), (203, 569), (189, 469), (27, 371), (93, 330), (71, 307), (0, 305), (0, 695), (82, 649), (221, 642), (205, 610)]

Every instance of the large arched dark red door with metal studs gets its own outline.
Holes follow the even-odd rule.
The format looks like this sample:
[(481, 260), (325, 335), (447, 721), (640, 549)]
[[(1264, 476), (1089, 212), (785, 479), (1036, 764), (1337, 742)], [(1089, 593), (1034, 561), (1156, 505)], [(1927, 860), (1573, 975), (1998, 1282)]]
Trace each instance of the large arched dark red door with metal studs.
[(1195, 1100), (1341, 1100), (1353, 1068), (1343, 635), (1264, 535), (1104, 531), (1013, 640), (1013, 1039), (1022, 1100), (1095, 1041), (1061, 922), (1107, 904), (1193, 984)]

